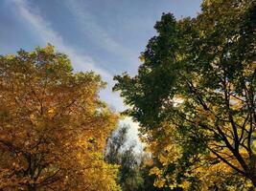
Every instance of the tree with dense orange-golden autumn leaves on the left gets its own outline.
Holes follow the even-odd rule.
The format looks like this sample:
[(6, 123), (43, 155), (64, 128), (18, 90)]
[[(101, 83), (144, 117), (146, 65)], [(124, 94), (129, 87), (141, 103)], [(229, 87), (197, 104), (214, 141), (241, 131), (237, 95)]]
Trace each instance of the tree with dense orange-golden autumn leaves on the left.
[(117, 115), (54, 47), (0, 56), (0, 189), (120, 190), (103, 158)]

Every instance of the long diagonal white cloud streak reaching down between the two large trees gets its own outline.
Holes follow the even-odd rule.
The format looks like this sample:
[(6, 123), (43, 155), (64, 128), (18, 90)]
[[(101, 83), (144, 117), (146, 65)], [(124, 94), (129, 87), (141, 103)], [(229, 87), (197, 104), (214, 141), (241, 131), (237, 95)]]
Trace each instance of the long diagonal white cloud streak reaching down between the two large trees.
[(52, 29), (51, 23), (41, 16), (38, 9), (32, 8), (27, 0), (12, 0), (12, 3), (19, 11), (20, 16), (33, 27), (43, 43), (52, 43), (58, 52), (66, 53), (70, 57), (76, 71), (94, 71), (101, 74), (103, 80), (108, 83), (106, 89), (101, 92), (102, 98), (114, 109), (118, 111), (124, 109), (122, 98), (111, 91), (114, 82), (110, 73), (96, 66), (92, 57), (80, 54), (75, 48), (67, 45), (62, 36)]

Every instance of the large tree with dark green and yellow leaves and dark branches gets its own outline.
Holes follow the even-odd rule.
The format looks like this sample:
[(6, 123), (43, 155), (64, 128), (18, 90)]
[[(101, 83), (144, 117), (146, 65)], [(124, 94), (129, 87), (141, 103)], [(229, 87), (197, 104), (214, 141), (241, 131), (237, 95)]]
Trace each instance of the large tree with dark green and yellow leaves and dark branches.
[(256, 3), (201, 8), (193, 19), (163, 14), (138, 74), (115, 76), (114, 90), (162, 163), (151, 170), (159, 187), (256, 186)]

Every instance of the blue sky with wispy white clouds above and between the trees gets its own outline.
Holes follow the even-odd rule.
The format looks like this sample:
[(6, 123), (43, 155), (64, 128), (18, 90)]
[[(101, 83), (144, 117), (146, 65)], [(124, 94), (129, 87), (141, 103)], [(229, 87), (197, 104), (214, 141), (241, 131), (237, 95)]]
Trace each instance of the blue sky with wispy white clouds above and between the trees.
[[(108, 83), (101, 98), (117, 112), (126, 106), (112, 93), (115, 74), (134, 75), (138, 57), (163, 12), (197, 16), (201, 0), (0, 0), (0, 54), (51, 43), (69, 55), (75, 72), (94, 71)], [(129, 136), (136, 138), (138, 125)]]

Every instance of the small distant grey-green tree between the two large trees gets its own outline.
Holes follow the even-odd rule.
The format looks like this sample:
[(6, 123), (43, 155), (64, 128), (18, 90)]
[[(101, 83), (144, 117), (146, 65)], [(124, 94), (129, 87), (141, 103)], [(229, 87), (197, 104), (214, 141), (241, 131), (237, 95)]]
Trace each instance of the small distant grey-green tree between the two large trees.
[(119, 165), (118, 182), (124, 191), (159, 190), (150, 176), (151, 157), (135, 151), (135, 144), (128, 140), (128, 126), (119, 127), (108, 138), (105, 160)]

